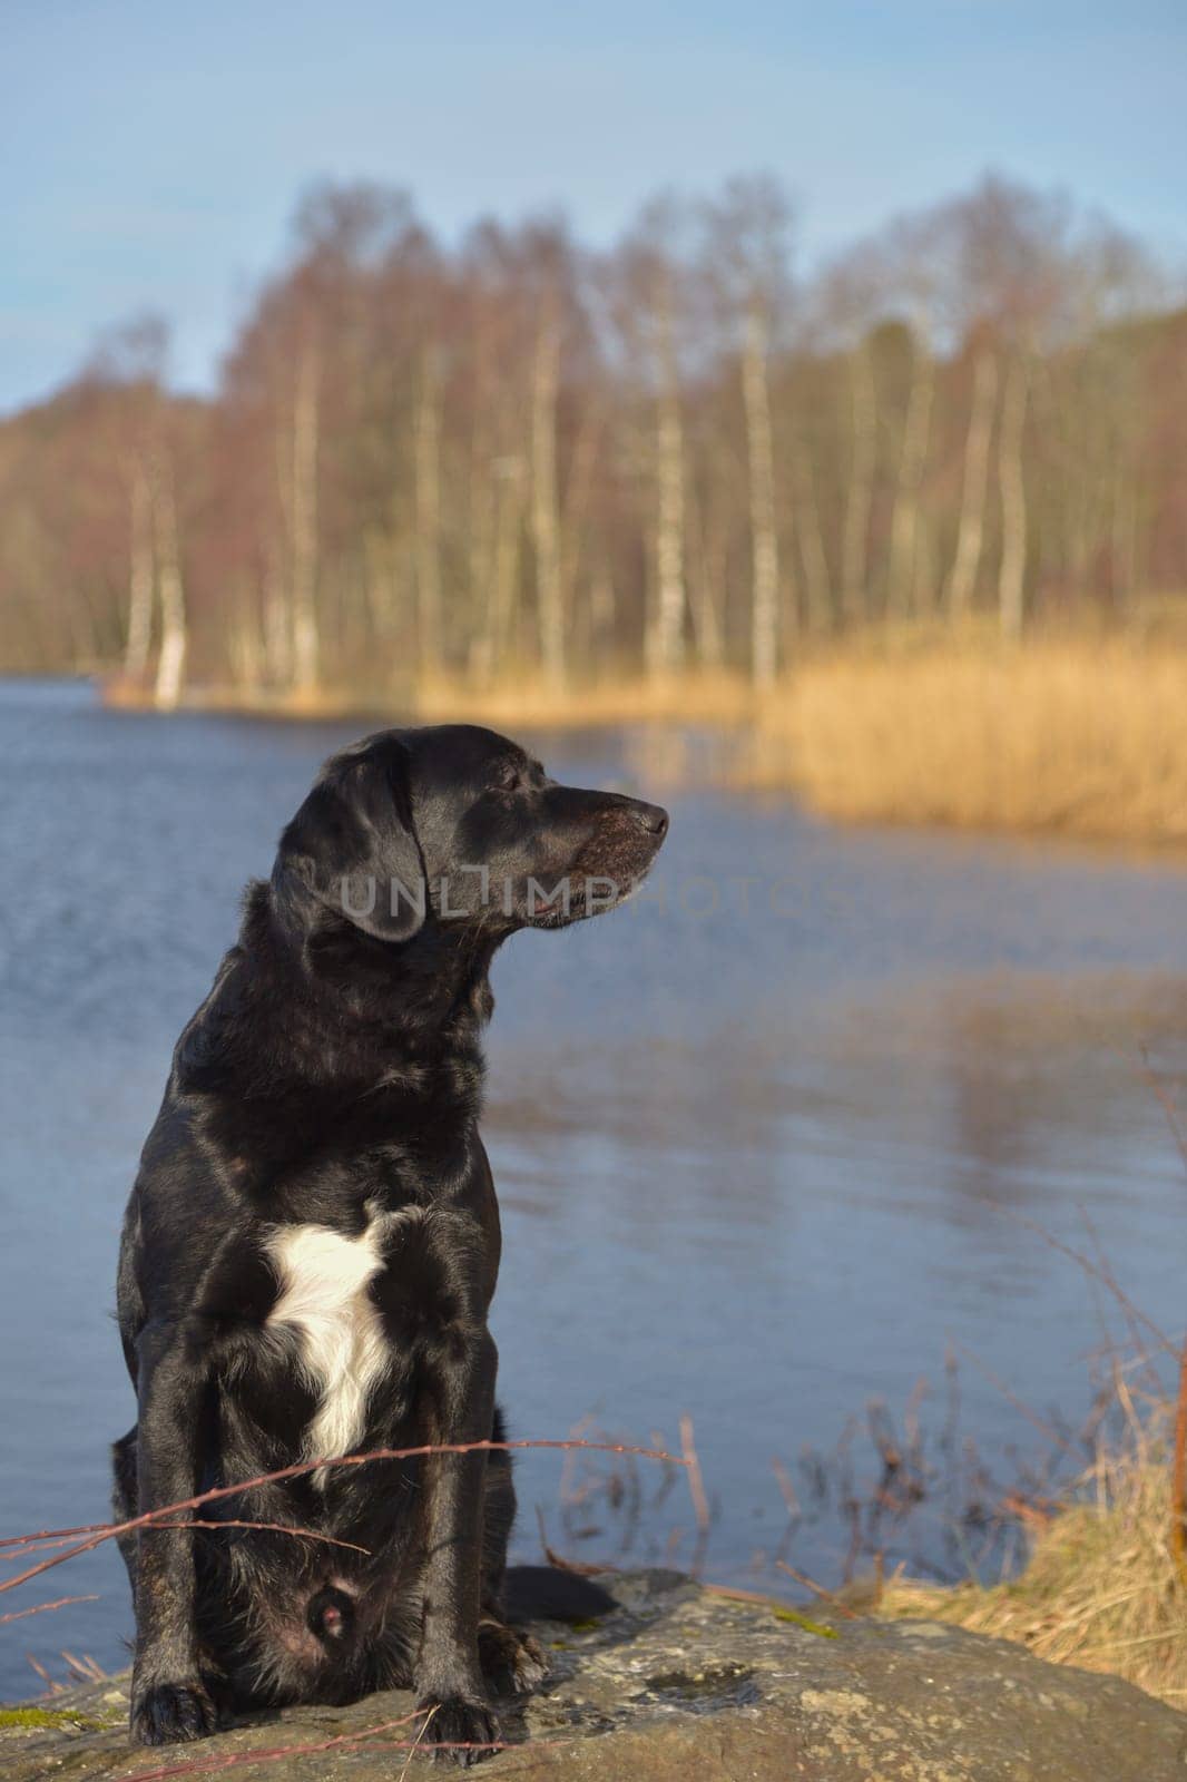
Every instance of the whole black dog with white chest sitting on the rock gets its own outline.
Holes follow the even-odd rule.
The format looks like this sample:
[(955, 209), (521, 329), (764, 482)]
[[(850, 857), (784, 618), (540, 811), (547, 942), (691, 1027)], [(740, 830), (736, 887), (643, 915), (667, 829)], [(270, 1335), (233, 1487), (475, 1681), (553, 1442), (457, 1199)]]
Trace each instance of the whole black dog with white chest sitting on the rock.
[[(271, 882), (248, 887), (141, 1158), (121, 1520), (292, 1463), (503, 1440), (487, 973), (513, 930), (626, 896), (667, 825), (465, 725), (385, 731), (326, 764)], [(428, 1743), (488, 1745), (488, 1686), (542, 1675), (503, 1616), (513, 1513), (506, 1452), (479, 1449), (307, 1470), (205, 1504), (216, 1531), (125, 1538), (132, 1736), (413, 1686)]]

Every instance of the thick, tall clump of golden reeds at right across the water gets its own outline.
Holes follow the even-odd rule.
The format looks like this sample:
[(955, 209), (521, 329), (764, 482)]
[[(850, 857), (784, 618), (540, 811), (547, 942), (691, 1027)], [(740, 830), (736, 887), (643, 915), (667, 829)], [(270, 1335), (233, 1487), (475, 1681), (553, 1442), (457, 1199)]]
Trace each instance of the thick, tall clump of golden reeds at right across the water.
[(763, 704), (740, 779), (852, 822), (1182, 843), (1187, 650), (954, 642), (807, 661)]

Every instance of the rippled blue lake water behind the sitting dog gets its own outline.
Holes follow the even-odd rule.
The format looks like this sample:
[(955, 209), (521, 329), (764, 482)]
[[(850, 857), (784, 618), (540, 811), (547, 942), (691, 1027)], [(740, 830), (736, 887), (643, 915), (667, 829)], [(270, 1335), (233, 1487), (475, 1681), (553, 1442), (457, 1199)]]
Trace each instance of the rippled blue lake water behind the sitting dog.
[[(107, 1515), (132, 1420), (116, 1242), (169, 1050), (242, 882), (355, 729), (0, 683), (4, 1533)], [(713, 1515), (697, 1554), (683, 1474), (535, 1452), (520, 1556), (540, 1506), (585, 1559), (791, 1588), (782, 1552), (831, 1584), (882, 1401), (900, 1451), (918, 1418), (927, 1492), (863, 1516), (863, 1545), (995, 1565), (977, 1508), (1050, 1458), (1034, 1418), (1075, 1429), (1105, 1331), (1125, 1335), (1043, 1233), (1105, 1255), (1182, 1333), (1187, 1173), (1142, 1048), (1182, 1094), (1187, 871), (670, 791), (633, 734), (535, 745), (558, 777), (663, 797), (672, 834), (647, 896), (495, 964), (501, 1397), (519, 1436), (672, 1447), (688, 1413)], [(27, 1652), (57, 1675), (62, 1648), (121, 1663), (111, 1547), (0, 1607), (80, 1593), (100, 1600), (0, 1627), (0, 1696), (39, 1688)]]

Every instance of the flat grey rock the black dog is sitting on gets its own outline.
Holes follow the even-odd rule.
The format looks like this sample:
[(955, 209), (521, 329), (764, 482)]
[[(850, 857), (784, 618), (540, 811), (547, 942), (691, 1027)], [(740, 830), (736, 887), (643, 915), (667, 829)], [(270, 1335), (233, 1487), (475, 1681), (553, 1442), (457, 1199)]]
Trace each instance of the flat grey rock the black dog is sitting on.
[[(608, 1613), (535, 1623), (553, 1675), (526, 1713), (506, 1716), (515, 1745), (483, 1764), (490, 1782), (1187, 1782), (1187, 1714), (1117, 1679), (932, 1622), (786, 1618), (674, 1572), (602, 1582)], [(137, 1752), (125, 1734), (127, 1677), (37, 1705), (57, 1723), (0, 1716), (11, 1782), (132, 1782), (191, 1766), (237, 1782), (399, 1782), (415, 1734), (390, 1725), (412, 1698), (376, 1695)], [(367, 1737), (378, 1727), (387, 1730)], [(410, 1775), (426, 1771), (413, 1757)]]

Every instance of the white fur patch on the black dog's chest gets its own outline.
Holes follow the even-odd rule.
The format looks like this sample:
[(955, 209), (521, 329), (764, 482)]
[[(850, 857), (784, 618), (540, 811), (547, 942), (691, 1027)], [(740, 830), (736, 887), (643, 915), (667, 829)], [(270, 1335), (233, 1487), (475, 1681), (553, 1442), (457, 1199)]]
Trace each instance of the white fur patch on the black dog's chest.
[[(317, 1410), (305, 1431), (305, 1459), (349, 1454), (367, 1427), (367, 1399), (387, 1369), (383, 1324), (367, 1288), (383, 1271), (383, 1240), (401, 1214), (378, 1214), (360, 1237), (328, 1226), (282, 1226), (266, 1242), (280, 1281), (269, 1324), (287, 1324)], [(326, 1488), (326, 1470), (314, 1475)]]

